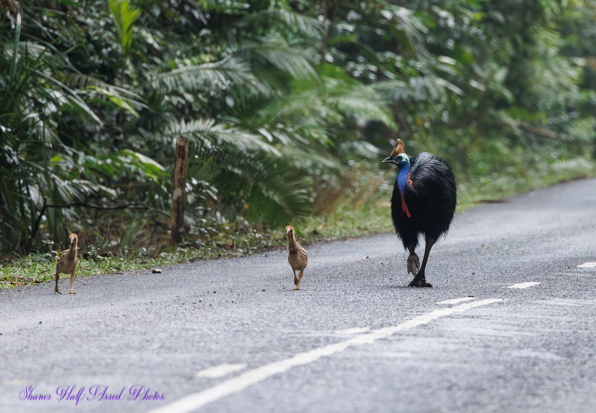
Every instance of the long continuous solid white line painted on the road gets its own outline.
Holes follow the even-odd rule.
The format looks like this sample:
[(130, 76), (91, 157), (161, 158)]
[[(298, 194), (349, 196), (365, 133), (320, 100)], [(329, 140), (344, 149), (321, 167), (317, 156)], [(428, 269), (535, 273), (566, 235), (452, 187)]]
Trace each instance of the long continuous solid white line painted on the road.
[(451, 308), (443, 308), (434, 310), (430, 313), (419, 315), (411, 320), (402, 322), (402, 324), (393, 325), (392, 327), (379, 328), (371, 333), (359, 334), (351, 339), (340, 341), (340, 343), (328, 344), (318, 349), (313, 349), (309, 352), (299, 353), (293, 357), (265, 364), (261, 367), (249, 370), (236, 377), (230, 378), (222, 383), (216, 384), (209, 389), (201, 392), (192, 393), (176, 400), (168, 405), (164, 405), (157, 409), (153, 409), (150, 413), (187, 413), (192, 412), (207, 403), (215, 402), (225, 396), (240, 392), (253, 384), (259, 383), (266, 378), (275, 374), (283, 373), (288, 369), (308, 363), (312, 363), (321, 357), (330, 356), (334, 353), (341, 352), (348, 347), (361, 346), (362, 344), (370, 344), (375, 340), (383, 339), (392, 336), (402, 330), (418, 327), (419, 325), (427, 324), (438, 318), (452, 315), (457, 312), (464, 312), (476, 307), (489, 305), (492, 303), (501, 302), (503, 299), (486, 299), (475, 301), (473, 303), (465, 303)]

